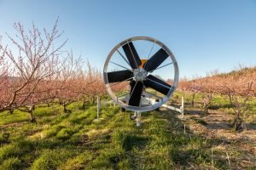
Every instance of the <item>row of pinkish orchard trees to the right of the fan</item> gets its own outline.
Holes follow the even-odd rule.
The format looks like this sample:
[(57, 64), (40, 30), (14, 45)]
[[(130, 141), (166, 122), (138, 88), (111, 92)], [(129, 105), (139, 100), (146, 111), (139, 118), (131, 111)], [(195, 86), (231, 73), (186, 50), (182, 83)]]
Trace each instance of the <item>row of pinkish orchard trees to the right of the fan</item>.
[(243, 128), (242, 116), (247, 111), (247, 101), (256, 97), (256, 69), (241, 69), (231, 74), (217, 74), (192, 81), (183, 81), (179, 83), (179, 88), (192, 95), (192, 106), (194, 106), (195, 94), (203, 94), (202, 103), (206, 113), (208, 113), (212, 95), (223, 95), (229, 100), (235, 113), (232, 126), (239, 130)]

